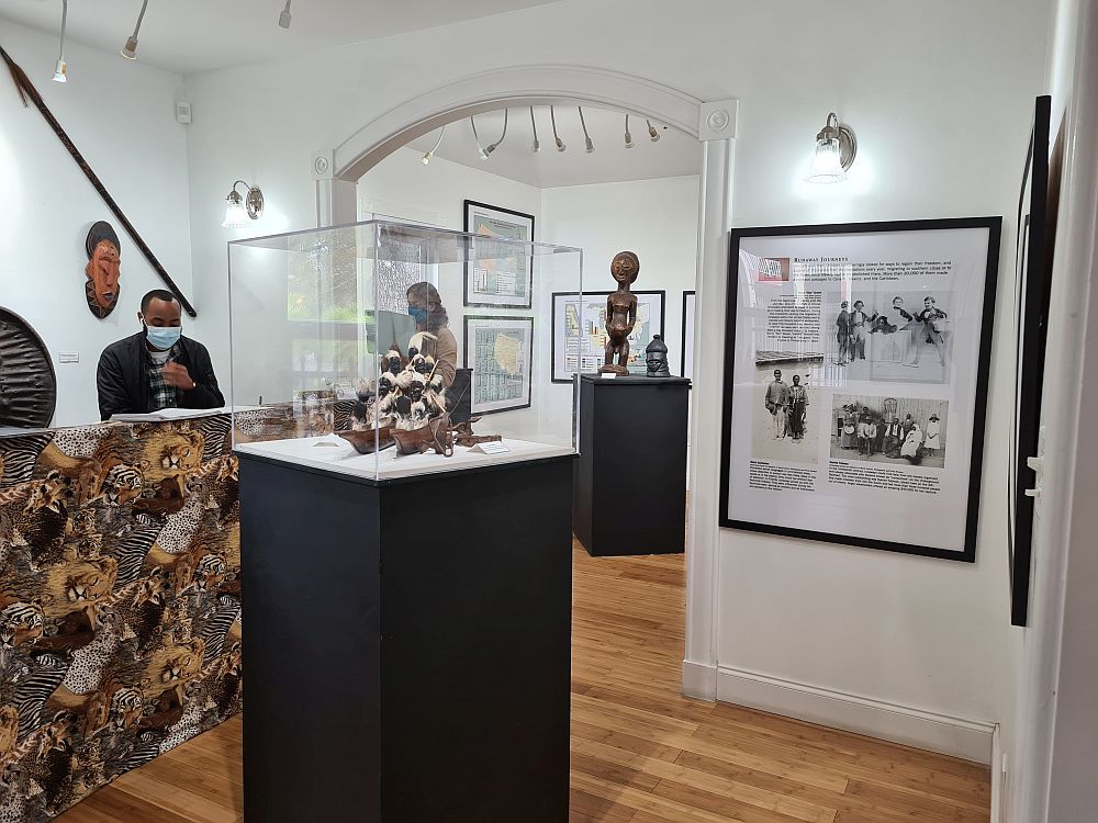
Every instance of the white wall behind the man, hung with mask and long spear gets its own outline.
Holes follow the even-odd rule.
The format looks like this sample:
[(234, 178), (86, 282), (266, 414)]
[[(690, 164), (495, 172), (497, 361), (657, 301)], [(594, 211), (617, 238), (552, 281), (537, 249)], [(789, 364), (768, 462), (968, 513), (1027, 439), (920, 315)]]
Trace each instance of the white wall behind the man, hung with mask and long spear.
[[(201, 312), (191, 294), (186, 127), (175, 119), (182, 78), (67, 43), (63, 86), (51, 79), (55, 37), (0, 19), (0, 43)], [(54, 425), (98, 421), (99, 353), (139, 330), (141, 296), (163, 283), (42, 115), (23, 108), (7, 67), (0, 75), (0, 305), (24, 317), (49, 349), (58, 382)], [(88, 309), (83, 291), (85, 239), (100, 219), (122, 241), (121, 296), (104, 320)], [(58, 363), (59, 352), (78, 352), (80, 362)]]

